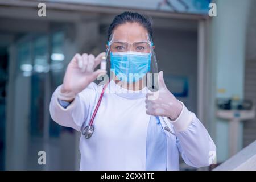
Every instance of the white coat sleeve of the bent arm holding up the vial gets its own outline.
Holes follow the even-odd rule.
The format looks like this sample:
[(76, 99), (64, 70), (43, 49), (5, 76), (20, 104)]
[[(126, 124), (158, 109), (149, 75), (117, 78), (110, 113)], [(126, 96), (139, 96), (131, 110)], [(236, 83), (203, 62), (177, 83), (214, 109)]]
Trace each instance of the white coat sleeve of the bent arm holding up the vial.
[(94, 104), (97, 101), (98, 86), (94, 82), (89, 84), (86, 89), (77, 94), (67, 108), (61, 106), (58, 101), (56, 93), (60, 87), (52, 94), (49, 105), (51, 118), (61, 126), (72, 127), (77, 131), (81, 131), (83, 123), (90, 117)]

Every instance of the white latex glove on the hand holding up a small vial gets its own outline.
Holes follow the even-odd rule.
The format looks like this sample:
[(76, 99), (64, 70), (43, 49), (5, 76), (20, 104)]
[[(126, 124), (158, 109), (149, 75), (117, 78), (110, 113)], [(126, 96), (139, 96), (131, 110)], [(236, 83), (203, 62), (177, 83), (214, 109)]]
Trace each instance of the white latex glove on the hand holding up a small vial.
[(105, 56), (105, 52), (100, 53), (96, 58), (87, 53), (82, 55), (77, 53), (68, 64), (57, 98), (72, 101), (76, 94), (84, 90), (98, 76), (104, 75), (105, 70), (97, 69), (94, 71), (97, 65), (101, 63), (103, 56)]

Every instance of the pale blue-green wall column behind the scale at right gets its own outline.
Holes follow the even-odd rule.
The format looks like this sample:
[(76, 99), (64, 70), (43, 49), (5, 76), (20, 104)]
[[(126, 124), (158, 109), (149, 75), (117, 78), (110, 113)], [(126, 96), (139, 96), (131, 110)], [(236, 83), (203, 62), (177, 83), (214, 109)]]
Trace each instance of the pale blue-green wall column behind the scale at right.
[[(210, 60), (216, 98), (243, 98), (246, 27), (250, 0), (216, 0), (217, 17), (212, 18)], [(213, 99), (213, 100), (215, 100)], [(213, 103), (214, 104), (214, 103)], [(214, 111), (213, 111), (214, 112)], [(228, 122), (215, 119), (217, 161), (228, 159)], [(242, 123), (239, 146), (242, 147)]]

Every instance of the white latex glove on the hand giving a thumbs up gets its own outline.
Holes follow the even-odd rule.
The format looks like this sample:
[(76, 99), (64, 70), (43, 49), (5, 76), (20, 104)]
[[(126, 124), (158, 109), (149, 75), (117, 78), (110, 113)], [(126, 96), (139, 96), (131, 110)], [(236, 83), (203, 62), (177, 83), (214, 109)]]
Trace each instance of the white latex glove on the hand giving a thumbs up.
[(172, 121), (177, 119), (183, 105), (166, 88), (163, 79), (163, 71), (158, 74), (159, 90), (146, 94), (146, 113), (149, 115), (169, 117)]

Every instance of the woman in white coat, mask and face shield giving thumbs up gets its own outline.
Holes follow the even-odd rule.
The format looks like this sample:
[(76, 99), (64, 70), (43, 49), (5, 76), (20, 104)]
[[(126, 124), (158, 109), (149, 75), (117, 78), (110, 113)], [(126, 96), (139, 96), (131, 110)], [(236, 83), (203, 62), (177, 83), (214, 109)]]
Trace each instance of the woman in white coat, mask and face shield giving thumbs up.
[[(122, 13), (110, 24), (108, 36), (107, 55), (76, 54), (51, 98), (52, 119), (81, 132), (80, 169), (179, 170), (179, 152), (190, 166), (212, 164), (213, 140), (196, 115), (166, 88), (163, 72), (156, 79), (156, 92), (147, 87), (144, 78), (153, 69), (154, 57), (151, 20)], [(98, 86), (93, 81), (106, 71), (94, 69), (104, 56), (114, 77)], [(134, 73), (137, 76), (130, 77)], [(90, 136), (84, 131), (92, 117)]]

